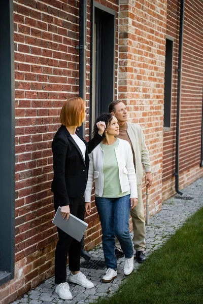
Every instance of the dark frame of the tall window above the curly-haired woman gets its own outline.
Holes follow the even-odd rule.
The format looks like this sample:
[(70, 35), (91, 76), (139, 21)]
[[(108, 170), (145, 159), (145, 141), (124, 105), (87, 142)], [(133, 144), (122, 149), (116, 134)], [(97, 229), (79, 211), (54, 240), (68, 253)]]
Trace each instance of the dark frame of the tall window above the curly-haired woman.
[[(111, 43), (113, 43), (113, 48), (112, 48), (112, 65), (111, 65), (111, 75), (112, 75), (112, 78), (111, 78), (111, 86), (112, 86), (112, 93), (110, 94), (110, 100), (109, 100), (109, 103), (111, 101), (114, 100), (114, 96), (115, 96), (115, 46), (116, 46), (116, 11), (112, 10), (112, 9), (109, 9), (107, 7), (105, 7), (104, 5), (101, 5), (95, 1), (91, 1), (91, 58), (90, 58), (90, 65), (91, 65), (91, 68), (90, 68), (90, 74), (91, 74), (91, 79), (90, 79), (90, 119), (89, 119), (89, 122), (90, 122), (90, 127), (89, 127), (89, 135), (90, 135), (90, 138), (91, 138), (91, 132), (92, 132), (92, 128), (93, 128), (93, 123), (94, 123), (94, 120), (95, 120), (95, 116), (98, 115), (98, 110), (96, 110), (96, 107), (100, 107), (101, 108), (101, 101), (100, 101), (100, 97), (98, 97), (98, 94), (102, 94), (102, 92), (99, 92), (99, 82), (100, 82), (100, 79), (98, 80), (98, 78), (100, 77), (100, 75), (97, 74), (97, 77), (96, 77), (96, 72), (98, 70), (95, 70), (95, 66), (94, 64), (96, 64), (96, 60), (97, 60), (97, 67), (98, 67), (98, 64), (99, 64), (99, 59), (98, 57), (97, 58), (93, 58), (93, 50), (94, 50), (94, 39), (95, 39), (95, 27), (94, 27), (94, 24), (95, 24), (95, 10), (100, 10), (104, 13), (108, 13), (110, 14), (113, 18), (114, 18), (114, 25), (113, 25), (113, 40), (111, 41)], [(97, 28), (97, 30), (100, 30)], [(98, 43), (98, 42), (97, 42)], [(99, 56), (101, 56), (101, 54), (99, 54)], [(102, 67), (99, 66), (99, 69), (101, 69)], [(103, 71), (100, 70), (100, 72), (102, 73)], [(94, 78), (96, 78), (96, 83), (93, 83), (94, 82)], [(97, 92), (97, 99), (98, 99), (98, 102), (99, 102), (99, 105), (96, 104), (95, 102), (95, 94)], [(107, 111), (108, 109), (106, 109)], [(95, 113), (95, 114), (94, 114)]]

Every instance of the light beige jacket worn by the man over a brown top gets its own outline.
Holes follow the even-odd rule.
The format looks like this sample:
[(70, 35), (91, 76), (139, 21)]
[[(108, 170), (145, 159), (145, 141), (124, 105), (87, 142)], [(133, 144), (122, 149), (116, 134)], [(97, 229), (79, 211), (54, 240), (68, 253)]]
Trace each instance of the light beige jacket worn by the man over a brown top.
[(143, 167), (146, 172), (151, 172), (149, 151), (145, 144), (145, 135), (138, 124), (127, 123), (127, 134), (132, 143), (134, 158), (136, 159), (137, 184), (142, 183)]

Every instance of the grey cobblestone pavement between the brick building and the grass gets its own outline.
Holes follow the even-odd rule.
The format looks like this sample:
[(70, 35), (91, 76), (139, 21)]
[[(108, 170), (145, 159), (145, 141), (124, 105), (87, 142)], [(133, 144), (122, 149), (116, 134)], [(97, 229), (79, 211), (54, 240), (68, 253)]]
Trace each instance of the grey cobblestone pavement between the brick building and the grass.
[[(166, 200), (162, 205), (162, 210), (150, 219), (150, 225), (146, 226), (146, 250), (148, 256), (170, 238), (175, 231), (182, 226), (185, 220), (203, 206), (203, 178), (198, 179), (183, 190), (184, 196), (193, 197), (192, 200), (182, 200), (176, 196)], [(99, 245), (91, 252), (92, 258), (104, 259), (102, 246)], [(134, 261), (134, 270), (139, 267), (139, 263)], [(101, 277), (106, 270), (84, 269), (81, 271), (94, 282), (95, 287), (91, 289), (83, 288), (70, 283), (73, 300), (62, 300), (55, 293), (54, 277), (46, 280), (35, 289), (24, 294), (22, 298), (12, 302), (13, 304), (82, 304), (92, 303), (98, 297), (109, 296), (114, 293), (121, 284), (124, 275), (124, 258), (118, 260), (118, 276), (113, 283), (101, 283)], [(67, 274), (69, 270), (67, 269)]]

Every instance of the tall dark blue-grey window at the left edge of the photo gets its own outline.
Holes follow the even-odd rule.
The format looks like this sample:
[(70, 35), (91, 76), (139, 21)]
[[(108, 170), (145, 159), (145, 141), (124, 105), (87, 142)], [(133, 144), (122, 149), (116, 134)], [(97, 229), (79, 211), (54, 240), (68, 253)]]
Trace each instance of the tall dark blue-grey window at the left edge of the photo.
[(13, 1), (0, 11), (0, 285), (14, 278), (15, 262), (15, 90)]

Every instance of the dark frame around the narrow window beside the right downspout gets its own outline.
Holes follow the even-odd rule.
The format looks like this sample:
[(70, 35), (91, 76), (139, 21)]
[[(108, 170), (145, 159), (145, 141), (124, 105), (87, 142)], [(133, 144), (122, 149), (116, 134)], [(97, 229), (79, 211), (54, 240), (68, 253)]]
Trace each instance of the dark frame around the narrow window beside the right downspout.
[[(167, 81), (169, 82), (170, 88), (167, 88), (167, 93), (169, 97), (167, 97), (167, 102), (170, 101), (170, 106), (167, 107), (170, 108), (169, 113), (167, 113), (167, 117), (166, 117), (166, 113), (163, 113), (163, 131), (171, 131), (171, 113), (172, 113), (172, 89), (173, 89), (173, 59), (174, 59), (174, 38), (171, 36), (166, 35), (166, 44), (167, 42), (170, 42), (170, 50), (166, 50), (166, 51), (170, 51), (170, 57), (169, 57), (169, 62), (165, 62), (165, 77), (164, 77), (164, 110), (166, 108), (165, 106), (165, 102), (166, 102), (166, 98), (165, 98), (165, 92), (166, 92), (166, 87), (165, 87), (165, 78), (166, 78), (166, 73), (167, 74)], [(166, 53), (165, 53), (166, 56)], [(166, 57), (165, 57), (166, 60)], [(168, 69), (168, 64), (170, 64), (170, 68)], [(164, 126), (164, 121), (166, 122), (166, 125)]]

